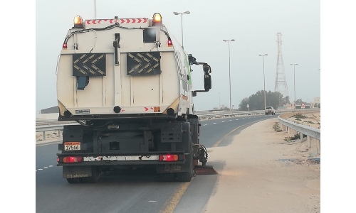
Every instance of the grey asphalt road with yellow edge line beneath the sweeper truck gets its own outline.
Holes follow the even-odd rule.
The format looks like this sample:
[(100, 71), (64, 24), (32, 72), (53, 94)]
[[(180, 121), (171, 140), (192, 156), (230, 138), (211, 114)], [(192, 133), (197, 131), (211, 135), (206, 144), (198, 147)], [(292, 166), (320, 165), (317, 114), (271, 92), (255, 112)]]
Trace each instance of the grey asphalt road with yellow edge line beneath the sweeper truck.
[[(227, 146), (253, 123), (278, 115), (240, 116), (201, 121), (200, 143)], [(201, 212), (217, 175), (197, 175), (192, 182), (161, 182), (155, 170), (103, 177), (95, 184), (70, 185), (56, 166), (58, 145), (36, 147), (36, 212)], [(214, 168), (223, 163), (209, 162)]]

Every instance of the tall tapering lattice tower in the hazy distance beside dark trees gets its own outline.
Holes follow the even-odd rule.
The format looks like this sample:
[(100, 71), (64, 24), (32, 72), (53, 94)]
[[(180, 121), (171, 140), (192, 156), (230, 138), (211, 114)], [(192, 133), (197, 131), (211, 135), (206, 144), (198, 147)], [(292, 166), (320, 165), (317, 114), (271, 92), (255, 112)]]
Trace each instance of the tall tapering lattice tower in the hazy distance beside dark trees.
[[(278, 55), (277, 55), (277, 70), (276, 70), (276, 82), (275, 91), (283, 94), (283, 97), (288, 96), (288, 87), (286, 80), (286, 73), (284, 72), (283, 57), (282, 57), (282, 34), (277, 33), (277, 43), (278, 43)], [(279, 104), (281, 106), (281, 104)]]

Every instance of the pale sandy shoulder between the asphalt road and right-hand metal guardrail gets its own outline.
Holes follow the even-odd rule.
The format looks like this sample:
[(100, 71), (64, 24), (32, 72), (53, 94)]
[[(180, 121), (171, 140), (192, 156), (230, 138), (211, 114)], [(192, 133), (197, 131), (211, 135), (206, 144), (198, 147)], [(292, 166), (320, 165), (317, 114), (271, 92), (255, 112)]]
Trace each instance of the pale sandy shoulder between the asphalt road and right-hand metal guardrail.
[(244, 129), (225, 147), (209, 148), (209, 165), (224, 163), (203, 212), (320, 212), (320, 164), (315, 141), (284, 141), (278, 119)]

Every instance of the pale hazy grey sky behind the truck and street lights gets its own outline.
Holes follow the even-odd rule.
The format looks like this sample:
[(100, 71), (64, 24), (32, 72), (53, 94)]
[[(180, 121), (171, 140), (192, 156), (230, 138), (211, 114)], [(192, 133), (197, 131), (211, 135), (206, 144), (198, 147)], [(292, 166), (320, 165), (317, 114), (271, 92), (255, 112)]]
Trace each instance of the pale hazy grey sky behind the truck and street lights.
[[(94, 1), (36, 1), (36, 112), (56, 106), (56, 63), (73, 18), (95, 16)], [(210, 92), (194, 98), (195, 109), (229, 107), (229, 48), (225, 40), (235, 39), (231, 48), (231, 103), (236, 109), (241, 99), (263, 89), (265, 58), (266, 90), (274, 91), (277, 67), (277, 33), (282, 34), (282, 54), (288, 93), (294, 100), (313, 101), (320, 97), (320, 1), (96, 1), (96, 18), (152, 18), (162, 15), (164, 25), (182, 40), (181, 16), (174, 11), (190, 11), (183, 16), (184, 50), (198, 61), (211, 65)], [(203, 89), (201, 67), (192, 67), (194, 89)]]

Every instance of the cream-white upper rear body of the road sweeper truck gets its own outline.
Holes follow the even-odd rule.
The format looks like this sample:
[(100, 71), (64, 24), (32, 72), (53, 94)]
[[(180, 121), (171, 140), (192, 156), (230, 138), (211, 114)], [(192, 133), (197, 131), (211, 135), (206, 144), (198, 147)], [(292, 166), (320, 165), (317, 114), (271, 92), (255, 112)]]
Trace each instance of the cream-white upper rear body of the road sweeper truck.
[[(61, 50), (57, 70), (57, 97), (61, 116), (66, 110), (72, 115), (117, 114), (113, 110), (115, 106), (120, 107), (120, 115), (167, 114), (169, 108), (174, 109), (177, 116), (194, 114), (191, 69), (187, 55), (173, 37), (172, 46), (169, 47), (169, 37), (164, 31), (169, 32), (164, 26), (150, 27), (152, 20), (149, 18), (87, 20), (83, 23), (88, 29), (105, 28), (112, 23), (120, 23), (120, 27), (83, 33), (75, 33), (83, 30), (78, 28), (68, 31), (67, 35), (72, 35), (66, 40), (67, 48)], [(144, 42), (143, 31), (147, 28), (156, 31), (155, 42)], [(115, 64), (115, 48), (112, 45), (115, 34), (120, 34), (118, 65)], [(144, 58), (138, 58), (138, 53)], [(155, 53), (160, 58), (154, 59), (159, 61), (147, 57), (147, 53)], [(79, 57), (76, 62), (73, 61), (73, 55)], [(134, 67), (127, 65), (127, 57), (130, 55), (135, 55), (134, 60), (140, 60), (137, 64), (133, 63)], [(146, 62), (147, 59), (150, 62)], [(104, 75), (95, 70), (100, 60), (103, 60), (102, 65), (105, 63), (102, 66), (105, 67), (102, 70)], [(146, 73), (155, 66), (160, 73)], [(75, 69), (84, 70), (87, 75), (89, 73), (89, 82), (84, 89), (78, 89), (78, 77), (73, 76)], [(136, 75), (128, 75), (132, 70)], [(142, 72), (138, 74), (140, 70)]]

